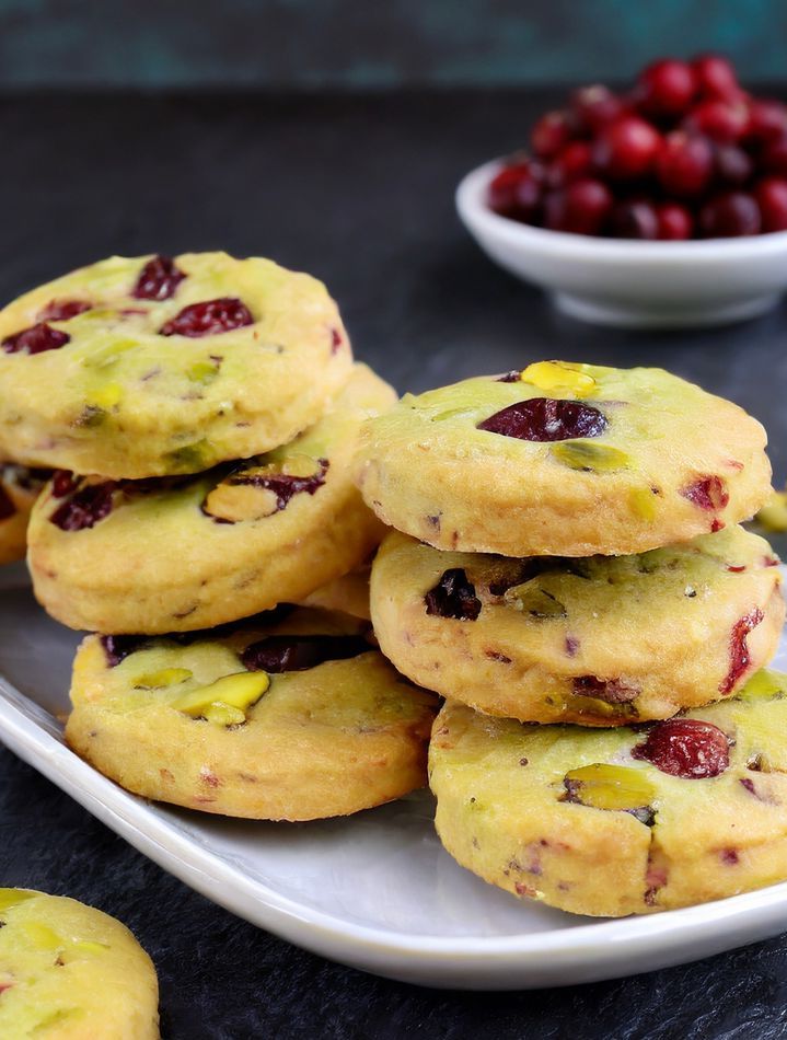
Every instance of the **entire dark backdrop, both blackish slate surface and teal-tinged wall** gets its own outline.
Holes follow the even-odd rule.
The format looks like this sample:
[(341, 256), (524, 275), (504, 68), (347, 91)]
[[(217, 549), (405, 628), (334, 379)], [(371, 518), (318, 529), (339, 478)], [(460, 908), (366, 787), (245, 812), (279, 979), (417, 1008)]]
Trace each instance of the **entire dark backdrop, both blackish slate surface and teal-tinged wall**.
[[(760, 417), (783, 482), (784, 304), (692, 333), (582, 325), (482, 256), (452, 193), (559, 103), (541, 81), (621, 79), (659, 50), (720, 44), (778, 79), (785, 18), (756, 2), (4, 0), (0, 299), (113, 252), (270, 255), (326, 280), (358, 356), (402, 391), (542, 357), (663, 365)], [(386, 982), (210, 904), (1, 750), (0, 879), (127, 923), (175, 1040), (787, 1036), (784, 938), (536, 993)]]

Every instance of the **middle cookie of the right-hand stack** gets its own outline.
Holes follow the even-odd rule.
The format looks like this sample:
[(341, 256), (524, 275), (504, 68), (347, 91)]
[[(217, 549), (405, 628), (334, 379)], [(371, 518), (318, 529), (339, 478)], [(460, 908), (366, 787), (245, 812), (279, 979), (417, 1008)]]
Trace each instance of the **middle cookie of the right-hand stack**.
[(392, 532), (371, 614), (395, 667), (489, 715), (618, 726), (729, 696), (776, 651), (778, 559), (734, 525), (637, 556), (441, 553)]

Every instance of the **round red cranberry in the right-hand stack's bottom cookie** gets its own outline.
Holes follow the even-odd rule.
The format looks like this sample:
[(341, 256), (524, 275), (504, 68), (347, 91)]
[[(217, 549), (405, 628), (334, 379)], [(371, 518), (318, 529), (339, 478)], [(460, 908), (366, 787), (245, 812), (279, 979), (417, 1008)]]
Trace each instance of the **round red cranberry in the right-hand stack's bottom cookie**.
[(636, 744), (632, 758), (644, 759), (670, 776), (707, 779), (729, 766), (730, 743), (711, 723), (670, 718), (655, 726), (644, 743)]

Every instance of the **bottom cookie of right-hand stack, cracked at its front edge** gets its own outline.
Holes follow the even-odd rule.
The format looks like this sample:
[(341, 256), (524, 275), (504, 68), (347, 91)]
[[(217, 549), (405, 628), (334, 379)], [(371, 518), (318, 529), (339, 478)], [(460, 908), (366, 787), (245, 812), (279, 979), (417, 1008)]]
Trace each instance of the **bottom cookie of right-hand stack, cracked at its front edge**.
[(448, 852), (491, 885), (592, 916), (787, 879), (787, 675), (647, 729), (526, 726), (448, 703), (429, 751)]

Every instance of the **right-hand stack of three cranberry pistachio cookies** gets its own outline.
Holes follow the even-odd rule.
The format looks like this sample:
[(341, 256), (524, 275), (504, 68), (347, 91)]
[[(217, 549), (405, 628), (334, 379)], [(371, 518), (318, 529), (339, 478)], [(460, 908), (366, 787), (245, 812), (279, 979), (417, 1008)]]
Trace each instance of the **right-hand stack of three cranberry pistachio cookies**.
[(380, 647), (445, 697), (437, 829), (463, 866), (576, 913), (787, 877), (778, 561), (762, 426), (658, 369), (557, 361), (405, 396), (357, 477), (395, 530)]

